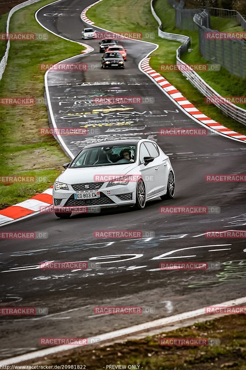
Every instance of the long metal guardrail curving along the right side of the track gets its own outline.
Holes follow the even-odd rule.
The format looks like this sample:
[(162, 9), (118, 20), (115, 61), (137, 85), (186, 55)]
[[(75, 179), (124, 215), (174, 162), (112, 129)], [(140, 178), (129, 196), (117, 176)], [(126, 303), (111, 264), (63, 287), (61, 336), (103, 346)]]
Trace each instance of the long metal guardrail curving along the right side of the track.
[[(181, 73), (190, 81), (190, 83), (197, 88), (205, 97), (217, 97), (219, 100), (223, 100), (225, 104), (221, 104), (221, 102), (214, 102), (214, 105), (218, 107), (222, 112), (224, 112), (229, 117), (233, 118), (234, 120), (246, 125), (246, 110), (243, 108), (238, 107), (235, 104), (224, 99), (221, 95), (218, 94), (211, 86), (209, 86), (193, 69), (188, 67), (183, 60), (180, 59), (181, 55), (188, 50), (190, 45), (190, 38), (188, 36), (179, 35), (175, 33), (167, 33), (162, 31), (162, 22), (160, 18), (155, 13), (153, 8), (153, 4), (156, 0), (150, 1), (151, 12), (157, 22), (159, 23), (158, 27), (158, 36), (162, 38), (166, 38), (168, 40), (179, 41), (183, 43), (178, 49), (176, 54), (177, 65), (182, 65), (183, 70)], [(184, 70), (185, 69), (185, 70)]]

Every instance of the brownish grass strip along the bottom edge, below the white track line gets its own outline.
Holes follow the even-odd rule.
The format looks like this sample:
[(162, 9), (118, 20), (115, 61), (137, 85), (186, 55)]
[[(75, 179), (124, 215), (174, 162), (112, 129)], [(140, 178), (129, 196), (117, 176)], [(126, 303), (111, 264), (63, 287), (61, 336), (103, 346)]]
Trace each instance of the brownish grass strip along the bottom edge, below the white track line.
[[(38, 364), (85, 365), (88, 370), (111, 369), (145, 370), (245, 370), (246, 369), (246, 317), (244, 314), (195, 323), (170, 332), (97, 347), (94, 350), (76, 349), (69, 354), (56, 354)], [(160, 346), (167, 338), (213, 338), (219, 346)], [(32, 363), (34, 365), (34, 363)], [(126, 367), (124, 367), (126, 366)], [(82, 367), (81, 367), (82, 368)]]

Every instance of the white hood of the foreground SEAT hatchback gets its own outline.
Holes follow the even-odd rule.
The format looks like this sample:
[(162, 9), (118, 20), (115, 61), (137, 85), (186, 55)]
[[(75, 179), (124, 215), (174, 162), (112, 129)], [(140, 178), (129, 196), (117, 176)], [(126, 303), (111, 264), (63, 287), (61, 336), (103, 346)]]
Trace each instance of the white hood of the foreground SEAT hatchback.
[[(119, 175), (124, 176), (132, 169), (137, 167), (136, 163), (126, 163), (121, 165), (95, 166), (86, 168), (67, 168), (56, 181), (65, 184), (79, 184), (83, 182), (94, 182), (94, 176)], [(102, 180), (103, 181), (103, 180)], [(107, 182), (107, 181), (104, 181)]]

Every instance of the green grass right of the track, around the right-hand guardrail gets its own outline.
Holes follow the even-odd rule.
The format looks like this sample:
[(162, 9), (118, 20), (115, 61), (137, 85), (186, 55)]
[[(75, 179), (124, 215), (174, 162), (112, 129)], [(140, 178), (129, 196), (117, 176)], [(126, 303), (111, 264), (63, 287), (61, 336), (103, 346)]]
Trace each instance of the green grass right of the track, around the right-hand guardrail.
[[(165, 20), (168, 21), (168, 24), (165, 24), (163, 30), (167, 32), (176, 33), (175, 26), (174, 26), (174, 9), (167, 3), (167, 0), (159, 0), (156, 3), (155, 10), (160, 18), (162, 19), (163, 24), (165, 24)], [(117, 14), (117, 17), (115, 16)], [(93, 20), (96, 26), (105, 28), (110, 31), (115, 32), (142, 32), (142, 33), (149, 33), (155, 32), (155, 39), (152, 40), (154, 43), (159, 45), (159, 48), (151, 54), (150, 65), (156, 71), (159, 71), (160, 64), (176, 64), (176, 50), (180, 46), (180, 43), (177, 41), (169, 41), (163, 40), (162, 38), (158, 37), (157, 34), (157, 22), (152, 16), (150, 10), (150, 3), (149, 0), (125, 0), (123, 3), (115, 2), (114, 0), (104, 0), (95, 6), (91, 7), (87, 11), (87, 17)], [(187, 36), (192, 36), (193, 31), (179, 31), (179, 33), (184, 33)], [(177, 31), (178, 33), (178, 31)], [(194, 32), (196, 33), (196, 32)], [(149, 41), (146, 39), (145, 41)], [(193, 40), (192, 48), (195, 50), (195, 40)], [(195, 58), (194, 51), (189, 54), (189, 57)], [(184, 56), (186, 57), (186, 55)], [(193, 63), (195, 60), (192, 60)], [(129, 62), (127, 62), (129, 63)], [(188, 61), (187, 61), (188, 63)], [(201, 56), (199, 57), (199, 63), (208, 63), (205, 59)], [(212, 104), (206, 104), (204, 101), (204, 96), (197, 91), (193, 85), (190, 84), (189, 81), (181, 74), (179, 71), (159, 71), (171, 84), (173, 84), (178, 90), (180, 90), (184, 96), (190, 100), (195, 107), (197, 107), (200, 111), (204, 114), (211, 117), (213, 120), (220, 122), (221, 124), (225, 125), (226, 127), (240, 132), (242, 134), (246, 134), (246, 127), (239, 122), (236, 122), (232, 118), (226, 117), (221, 110), (215, 107)], [(204, 72), (203, 74), (209, 75), (208, 72)], [(228, 73), (224, 68), (222, 68), (221, 72), (211, 72), (210, 75), (213, 76), (215, 74), (224, 75)], [(231, 75), (230, 75), (231, 76)], [(202, 78), (204, 76), (202, 75)], [(245, 81), (242, 81), (240, 78), (237, 79), (235, 76), (231, 76), (233, 80), (233, 84), (230, 84), (231, 90), (229, 91), (218, 91), (222, 95), (227, 96), (240, 96), (242, 95), (242, 86), (245, 85)], [(226, 77), (225, 77), (226, 79)], [(219, 77), (218, 77), (219, 80)], [(235, 82), (236, 81), (236, 82)], [(236, 85), (238, 84), (238, 85)], [(212, 85), (215, 90), (216, 85)], [(240, 89), (239, 89), (240, 87)], [(229, 88), (229, 83), (228, 83)], [(242, 95), (243, 96), (243, 95)]]

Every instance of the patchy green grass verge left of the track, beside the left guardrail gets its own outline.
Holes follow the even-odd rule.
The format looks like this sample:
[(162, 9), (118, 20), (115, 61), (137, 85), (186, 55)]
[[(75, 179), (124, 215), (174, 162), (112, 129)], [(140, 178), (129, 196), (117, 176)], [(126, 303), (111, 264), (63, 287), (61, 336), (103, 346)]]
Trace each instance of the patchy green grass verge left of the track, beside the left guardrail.
[[(82, 46), (49, 33), (34, 14), (51, 0), (18, 10), (10, 32), (48, 33), (47, 41), (12, 41), (8, 63), (0, 82), (1, 97), (43, 97), (44, 73), (40, 63), (57, 63), (80, 54)], [(4, 21), (5, 14), (1, 21)], [(49, 127), (45, 104), (0, 105), (0, 175), (35, 176), (35, 182), (0, 182), (0, 209), (21, 202), (49, 188), (67, 157), (53, 136), (39, 135)]]

